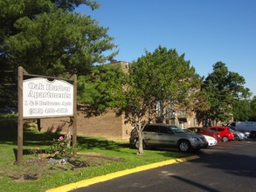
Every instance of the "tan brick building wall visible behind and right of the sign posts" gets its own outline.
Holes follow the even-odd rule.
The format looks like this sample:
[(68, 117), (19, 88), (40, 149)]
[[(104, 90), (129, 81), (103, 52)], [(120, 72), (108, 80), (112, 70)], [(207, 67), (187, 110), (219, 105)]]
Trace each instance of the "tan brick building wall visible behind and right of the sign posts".
[[(41, 119), (42, 131), (66, 134), (70, 125), (69, 118)], [(93, 118), (85, 118), (82, 113), (77, 116), (77, 134), (89, 137), (101, 137), (114, 141), (128, 141), (132, 126), (124, 124), (123, 116), (116, 117), (110, 111), (104, 115)]]

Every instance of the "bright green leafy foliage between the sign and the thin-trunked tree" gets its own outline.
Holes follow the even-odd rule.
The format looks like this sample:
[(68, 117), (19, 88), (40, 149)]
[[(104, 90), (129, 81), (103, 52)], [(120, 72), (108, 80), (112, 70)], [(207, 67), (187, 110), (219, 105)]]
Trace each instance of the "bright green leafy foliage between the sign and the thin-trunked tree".
[(87, 118), (106, 113), (120, 93), (126, 74), (121, 65), (96, 65), (78, 78), (78, 105)]

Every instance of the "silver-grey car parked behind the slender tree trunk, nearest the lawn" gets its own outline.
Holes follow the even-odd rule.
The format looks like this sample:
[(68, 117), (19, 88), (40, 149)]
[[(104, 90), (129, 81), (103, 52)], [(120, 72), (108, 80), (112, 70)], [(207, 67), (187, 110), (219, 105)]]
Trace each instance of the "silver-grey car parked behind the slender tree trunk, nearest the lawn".
[[(181, 152), (197, 151), (208, 146), (204, 136), (167, 124), (146, 125), (142, 130), (142, 139), (143, 147), (177, 147)], [(135, 128), (131, 132), (129, 142), (139, 147)]]

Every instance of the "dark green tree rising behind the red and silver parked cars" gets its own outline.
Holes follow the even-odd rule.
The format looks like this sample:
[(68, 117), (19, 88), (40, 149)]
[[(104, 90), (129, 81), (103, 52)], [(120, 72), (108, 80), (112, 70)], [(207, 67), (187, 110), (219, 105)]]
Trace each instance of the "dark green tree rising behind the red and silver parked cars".
[(238, 100), (250, 96), (249, 89), (245, 88), (245, 79), (237, 72), (229, 72), (224, 63), (213, 65), (213, 72), (204, 80), (202, 90), (207, 93), (210, 109), (204, 113), (207, 119), (225, 122), (238, 113)]

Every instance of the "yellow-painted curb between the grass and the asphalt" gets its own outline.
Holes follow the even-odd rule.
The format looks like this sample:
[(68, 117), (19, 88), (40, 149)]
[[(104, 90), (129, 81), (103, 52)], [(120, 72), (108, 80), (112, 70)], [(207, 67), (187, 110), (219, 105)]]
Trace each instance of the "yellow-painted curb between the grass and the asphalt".
[(158, 167), (162, 167), (165, 165), (170, 165), (172, 163), (178, 163), (178, 162), (183, 162), (183, 161), (190, 161), (190, 160), (194, 160), (199, 158), (197, 155), (193, 155), (193, 156), (189, 156), (189, 157), (184, 157), (184, 158), (178, 158), (178, 159), (173, 159), (173, 160), (168, 160), (168, 161), (161, 161), (161, 162), (156, 162), (156, 163), (152, 163), (149, 165), (143, 165), (137, 168), (131, 168), (131, 169), (126, 169), (126, 170), (121, 170), (112, 174), (107, 174), (107, 175), (101, 175), (101, 176), (97, 176), (91, 179), (87, 179), (87, 180), (82, 180), (80, 182), (73, 182), (70, 184), (66, 184), (63, 186), (60, 186), (58, 188), (55, 189), (48, 189), (46, 190), (46, 192), (67, 192), (73, 189), (78, 189), (78, 188), (82, 188), (82, 187), (86, 187), (89, 185), (93, 185), (97, 182), (106, 182), (107, 180), (111, 180), (123, 175), (129, 175), (129, 174), (133, 174), (136, 172), (140, 172), (140, 171), (144, 171), (150, 168), (158, 168)]

